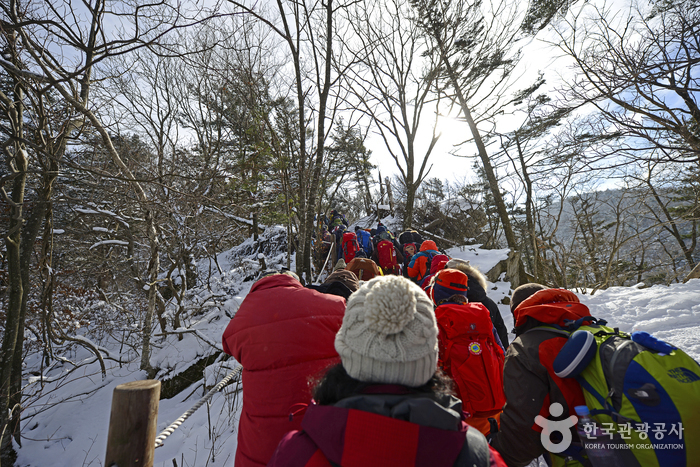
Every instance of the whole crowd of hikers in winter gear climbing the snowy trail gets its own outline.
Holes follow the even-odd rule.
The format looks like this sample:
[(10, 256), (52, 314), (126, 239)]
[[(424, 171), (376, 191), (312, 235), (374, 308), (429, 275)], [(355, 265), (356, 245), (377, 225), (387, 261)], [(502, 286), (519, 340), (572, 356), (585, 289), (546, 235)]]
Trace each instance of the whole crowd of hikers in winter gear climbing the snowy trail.
[[(343, 225), (347, 231), (347, 221)], [(542, 455), (550, 465), (618, 465), (592, 464), (597, 454), (586, 451), (581, 431), (569, 422), (595, 402), (594, 388), (581, 377), (593, 370), (584, 368), (594, 365), (591, 358), (604, 360), (602, 350), (598, 360), (589, 355), (591, 339), (585, 352), (574, 347), (580, 332), (605, 341), (601, 348), (619, 340), (615, 345), (626, 354), (612, 358), (617, 365), (631, 366), (657, 344), (667, 346), (657, 352), (669, 356), (664, 364), (682, 365), (682, 371), (667, 369), (683, 394), (671, 387), (675, 381), (658, 377), (657, 386), (644, 380), (635, 396), (624, 375), (625, 394), (614, 388), (607, 398), (598, 394), (602, 405), (591, 413), (608, 417), (599, 420), (617, 426), (632, 420), (631, 413), (647, 425), (657, 421), (667, 440), (682, 446), (658, 454), (637, 444), (646, 451), (628, 450), (627, 463), (619, 465), (699, 462), (691, 451), (700, 447), (686, 439), (700, 431), (700, 367), (682, 351), (608, 328), (574, 293), (535, 283), (510, 297), (516, 338), (509, 343), (477, 268), (449, 258), (432, 240), (382, 236), (388, 232), (382, 227), (357, 229), (378, 239), (369, 252), (357, 249), (368, 257), (345, 262), (338, 252), (321, 285), (305, 287), (291, 271), (262, 277), (228, 324), (224, 351), (243, 366), (236, 466), (525, 466)], [(398, 269), (352, 267), (356, 259), (373, 261), (382, 242), (396, 253), (406, 251), (406, 243), (415, 249), (408, 260), (401, 252)], [(621, 353), (614, 346), (611, 352)], [(638, 364), (654, 373), (651, 363)], [(644, 399), (645, 391), (661, 397), (663, 410), (649, 409), (654, 401)], [(672, 407), (676, 418), (668, 415)], [(633, 428), (637, 441), (647, 440)], [(675, 457), (663, 457), (668, 453)], [(650, 456), (654, 462), (647, 463)]]

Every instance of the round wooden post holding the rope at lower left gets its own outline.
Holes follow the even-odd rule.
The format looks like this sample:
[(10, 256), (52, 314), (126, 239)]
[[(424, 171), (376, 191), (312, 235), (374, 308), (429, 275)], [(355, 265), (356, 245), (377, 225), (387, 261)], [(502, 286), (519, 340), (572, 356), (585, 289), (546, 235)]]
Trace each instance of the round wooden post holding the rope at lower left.
[(153, 466), (159, 399), (157, 380), (133, 381), (114, 388), (105, 466)]

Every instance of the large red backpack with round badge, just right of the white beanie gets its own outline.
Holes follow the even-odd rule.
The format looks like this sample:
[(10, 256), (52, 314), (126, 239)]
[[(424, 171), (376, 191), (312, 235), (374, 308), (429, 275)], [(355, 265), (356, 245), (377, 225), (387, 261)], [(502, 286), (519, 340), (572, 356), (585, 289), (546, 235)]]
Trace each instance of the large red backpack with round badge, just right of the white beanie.
[(435, 309), (440, 365), (452, 377), (462, 410), (472, 416), (500, 412), (503, 393), (503, 349), (493, 336), (489, 310), (481, 303), (446, 303)]

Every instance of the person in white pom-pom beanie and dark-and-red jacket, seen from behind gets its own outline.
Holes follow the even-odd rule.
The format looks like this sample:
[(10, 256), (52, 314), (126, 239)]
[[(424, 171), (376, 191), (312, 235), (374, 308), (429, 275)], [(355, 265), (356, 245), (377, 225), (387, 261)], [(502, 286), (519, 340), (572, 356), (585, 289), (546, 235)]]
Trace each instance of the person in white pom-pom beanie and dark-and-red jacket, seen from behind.
[(364, 282), (335, 339), (341, 365), (269, 466), (502, 466), (437, 370), (437, 326), (425, 293), (402, 276)]

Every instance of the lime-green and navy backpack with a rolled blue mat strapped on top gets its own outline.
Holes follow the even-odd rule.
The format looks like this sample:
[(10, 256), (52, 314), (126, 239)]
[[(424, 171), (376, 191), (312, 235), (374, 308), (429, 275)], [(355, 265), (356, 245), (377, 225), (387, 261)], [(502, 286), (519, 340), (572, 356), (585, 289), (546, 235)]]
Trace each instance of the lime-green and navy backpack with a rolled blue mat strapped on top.
[(625, 465), (634, 465), (635, 458), (644, 467), (698, 465), (700, 365), (645, 332), (628, 334), (605, 324), (587, 317), (567, 329), (535, 329), (569, 338), (554, 372), (576, 378), (610, 443), (628, 451)]

